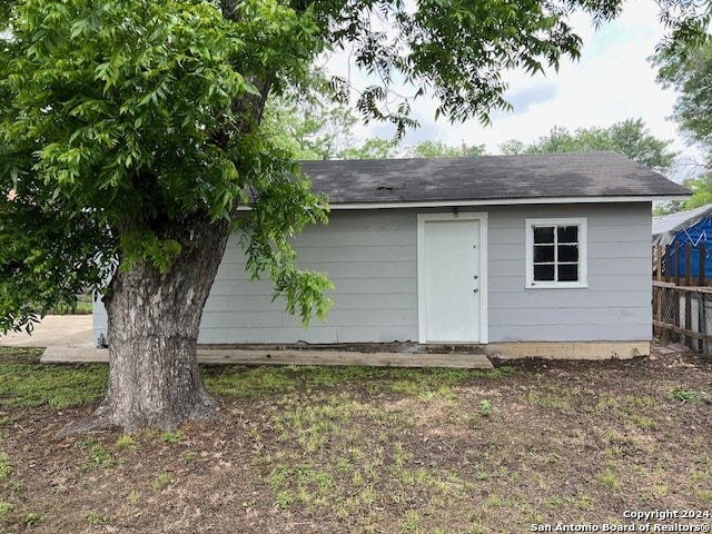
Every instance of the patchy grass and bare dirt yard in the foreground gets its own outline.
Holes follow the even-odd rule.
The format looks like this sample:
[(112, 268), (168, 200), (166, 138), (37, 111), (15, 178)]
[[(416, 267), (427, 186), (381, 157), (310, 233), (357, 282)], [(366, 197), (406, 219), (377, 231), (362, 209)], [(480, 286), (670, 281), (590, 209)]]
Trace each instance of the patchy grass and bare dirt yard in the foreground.
[[(219, 421), (60, 439), (107, 367), (38, 354), (0, 347), (0, 534), (524, 533), (712, 510), (712, 363), (695, 355), (205, 367)], [(710, 523), (651, 523), (674, 521)]]

